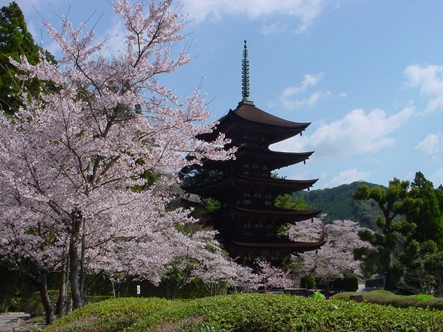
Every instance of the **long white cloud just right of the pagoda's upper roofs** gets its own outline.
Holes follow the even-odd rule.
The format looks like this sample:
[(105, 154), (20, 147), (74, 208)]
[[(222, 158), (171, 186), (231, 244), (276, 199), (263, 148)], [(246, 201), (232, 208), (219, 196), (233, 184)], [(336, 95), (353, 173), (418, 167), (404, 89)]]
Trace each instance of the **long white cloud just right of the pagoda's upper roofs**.
[(392, 116), (386, 116), (382, 109), (374, 109), (368, 114), (363, 109), (354, 109), (342, 120), (323, 124), (311, 136), (289, 138), (276, 143), (272, 149), (315, 150), (317, 157), (332, 158), (379, 151), (395, 144), (395, 139), (389, 135), (399, 129), (413, 113), (412, 107), (405, 107)]

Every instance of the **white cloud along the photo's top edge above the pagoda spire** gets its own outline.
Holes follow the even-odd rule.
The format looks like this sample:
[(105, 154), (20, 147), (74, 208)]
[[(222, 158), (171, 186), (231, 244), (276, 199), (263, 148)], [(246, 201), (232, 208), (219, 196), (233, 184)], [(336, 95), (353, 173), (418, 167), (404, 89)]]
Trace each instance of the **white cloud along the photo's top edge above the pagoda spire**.
[(305, 30), (323, 10), (325, 0), (181, 0), (184, 12), (197, 21), (221, 19), (227, 15), (242, 15), (262, 19), (275, 15), (296, 17), (298, 31)]

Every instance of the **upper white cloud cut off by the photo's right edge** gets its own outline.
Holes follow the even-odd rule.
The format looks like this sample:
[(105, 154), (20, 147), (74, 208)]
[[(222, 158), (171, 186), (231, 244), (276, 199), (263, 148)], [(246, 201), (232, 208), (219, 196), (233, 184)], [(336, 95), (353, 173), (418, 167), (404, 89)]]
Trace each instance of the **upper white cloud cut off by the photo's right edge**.
[(428, 100), (423, 113), (443, 109), (443, 66), (408, 66), (404, 71), (410, 87), (419, 87), (422, 95), (431, 98)]

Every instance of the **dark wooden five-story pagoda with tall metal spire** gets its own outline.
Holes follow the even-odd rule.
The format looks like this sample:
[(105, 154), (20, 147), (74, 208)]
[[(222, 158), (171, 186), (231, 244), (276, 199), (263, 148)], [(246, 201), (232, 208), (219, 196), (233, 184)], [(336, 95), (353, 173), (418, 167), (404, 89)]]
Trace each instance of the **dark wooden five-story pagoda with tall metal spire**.
[[(271, 172), (304, 162), (313, 151), (288, 153), (271, 151), (269, 145), (301, 134), (309, 123), (298, 123), (272, 116), (249, 100), (249, 68), (246, 41), (242, 59), (242, 102), (219, 119), (212, 133), (200, 135), (214, 140), (219, 133), (237, 147), (235, 159), (207, 160), (201, 167), (183, 169), (182, 188), (202, 198), (220, 202), (220, 208), (205, 218), (219, 231), (219, 241), (239, 263), (251, 265), (265, 259), (280, 265), (291, 254), (316, 250), (324, 243), (291, 241), (280, 235), (282, 225), (314, 218), (319, 210), (276, 208), (275, 198), (309, 189), (318, 179), (287, 180)], [(228, 148), (228, 147), (226, 147)]]

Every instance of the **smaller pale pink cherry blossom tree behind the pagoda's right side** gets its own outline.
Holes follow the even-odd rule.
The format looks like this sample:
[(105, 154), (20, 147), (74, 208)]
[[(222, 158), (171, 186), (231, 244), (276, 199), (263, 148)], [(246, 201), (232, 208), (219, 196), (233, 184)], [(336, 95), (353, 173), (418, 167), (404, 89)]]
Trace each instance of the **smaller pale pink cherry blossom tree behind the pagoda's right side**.
[[(350, 220), (336, 220), (324, 224), (323, 216), (296, 223), (289, 230), (289, 237), (298, 241), (312, 241), (327, 234), (327, 242), (314, 252), (305, 252), (293, 259), (293, 265), (300, 277), (344, 277), (361, 275), (362, 262), (354, 259), (354, 249), (370, 248), (370, 243), (359, 238), (363, 230), (359, 223)], [(369, 231), (369, 230), (368, 230)]]

